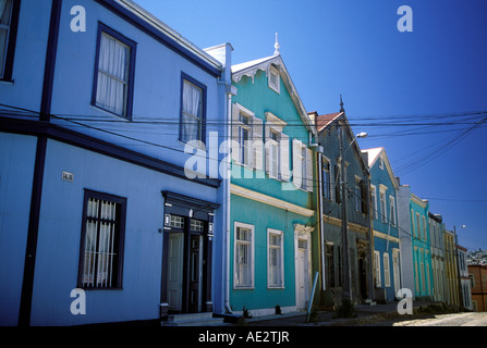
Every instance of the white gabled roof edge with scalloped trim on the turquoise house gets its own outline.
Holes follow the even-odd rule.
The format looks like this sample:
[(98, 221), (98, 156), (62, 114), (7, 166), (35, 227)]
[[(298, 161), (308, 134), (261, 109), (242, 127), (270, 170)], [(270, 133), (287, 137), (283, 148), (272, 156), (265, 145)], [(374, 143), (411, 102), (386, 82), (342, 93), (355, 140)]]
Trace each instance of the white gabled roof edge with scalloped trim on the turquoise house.
[(270, 57), (232, 65), (232, 80), (234, 83), (239, 83), (243, 76), (248, 76), (249, 78), (252, 78), (252, 80), (254, 80), (254, 76), (259, 70), (264, 71), (268, 75), (271, 65), (275, 65), (276, 67), (279, 69), (282, 82), (288, 88), (289, 94), (294, 102), (294, 105), (297, 112), (300, 113), (301, 119), (303, 120), (303, 123), (306, 125), (309, 132), (316, 134), (316, 128), (313, 124), (313, 121), (303, 105), (303, 102), (291, 79), (291, 75), (289, 74), (288, 69), (284, 65), (281, 54), (273, 54)]

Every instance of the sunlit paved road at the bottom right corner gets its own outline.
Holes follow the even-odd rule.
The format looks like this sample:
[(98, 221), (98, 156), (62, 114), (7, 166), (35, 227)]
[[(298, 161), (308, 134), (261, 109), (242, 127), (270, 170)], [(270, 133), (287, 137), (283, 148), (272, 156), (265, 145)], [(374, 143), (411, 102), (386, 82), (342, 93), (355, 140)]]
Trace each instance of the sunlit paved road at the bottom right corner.
[(374, 323), (374, 326), (487, 326), (487, 313), (436, 314), (413, 320), (399, 319)]

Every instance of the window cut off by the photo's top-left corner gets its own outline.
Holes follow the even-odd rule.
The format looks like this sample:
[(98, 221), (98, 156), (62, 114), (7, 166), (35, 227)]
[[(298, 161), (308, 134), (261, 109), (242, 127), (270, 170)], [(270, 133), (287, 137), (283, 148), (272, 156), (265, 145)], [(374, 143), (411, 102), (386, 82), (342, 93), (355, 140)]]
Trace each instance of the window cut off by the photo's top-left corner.
[(12, 80), (20, 0), (0, 0), (0, 79)]

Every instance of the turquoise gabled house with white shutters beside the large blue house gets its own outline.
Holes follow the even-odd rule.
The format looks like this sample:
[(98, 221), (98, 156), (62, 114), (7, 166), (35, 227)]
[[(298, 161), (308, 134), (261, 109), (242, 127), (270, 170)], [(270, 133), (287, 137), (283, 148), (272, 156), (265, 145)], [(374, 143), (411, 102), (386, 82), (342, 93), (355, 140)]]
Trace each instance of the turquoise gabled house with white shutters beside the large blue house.
[(254, 316), (303, 310), (316, 132), (278, 46), (271, 57), (233, 65), (232, 85), (228, 309)]

